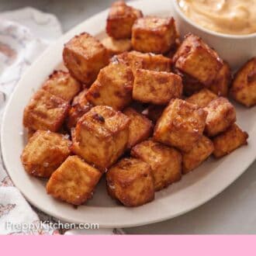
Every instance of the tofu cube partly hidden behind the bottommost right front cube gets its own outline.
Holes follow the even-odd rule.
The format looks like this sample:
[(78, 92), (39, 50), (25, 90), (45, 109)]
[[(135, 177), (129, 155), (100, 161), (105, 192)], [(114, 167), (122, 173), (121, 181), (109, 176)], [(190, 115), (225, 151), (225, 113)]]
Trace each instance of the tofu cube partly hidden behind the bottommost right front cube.
[(145, 140), (131, 150), (131, 155), (150, 165), (155, 191), (182, 178), (182, 154), (153, 140)]

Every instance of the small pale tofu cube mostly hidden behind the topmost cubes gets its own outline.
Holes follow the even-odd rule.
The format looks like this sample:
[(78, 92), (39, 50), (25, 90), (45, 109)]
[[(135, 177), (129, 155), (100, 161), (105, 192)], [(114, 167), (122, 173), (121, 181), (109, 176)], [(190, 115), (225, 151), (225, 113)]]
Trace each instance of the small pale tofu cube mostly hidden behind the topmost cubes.
[(130, 39), (116, 40), (108, 36), (102, 40), (102, 44), (109, 51), (109, 55), (122, 54), (123, 52), (132, 49), (132, 42)]

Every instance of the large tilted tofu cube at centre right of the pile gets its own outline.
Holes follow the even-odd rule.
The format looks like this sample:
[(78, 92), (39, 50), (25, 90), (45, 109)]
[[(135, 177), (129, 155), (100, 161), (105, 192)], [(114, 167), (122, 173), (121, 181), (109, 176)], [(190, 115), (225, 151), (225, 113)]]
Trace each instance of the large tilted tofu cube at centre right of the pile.
[(154, 140), (189, 152), (202, 137), (207, 112), (182, 99), (171, 100), (154, 127)]

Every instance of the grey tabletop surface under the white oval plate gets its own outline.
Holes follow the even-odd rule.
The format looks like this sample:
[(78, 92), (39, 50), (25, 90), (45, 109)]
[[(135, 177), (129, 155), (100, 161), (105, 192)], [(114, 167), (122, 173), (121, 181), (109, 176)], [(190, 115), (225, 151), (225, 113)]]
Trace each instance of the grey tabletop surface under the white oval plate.
[[(113, 0), (2, 0), (0, 12), (33, 6), (54, 13), (64, 32), (106, 9)], [(232, 170), (230, 170), (232, 171)], [(143, 227), (129, 234), (256, 234), (256, 162), (224, 192), (183, 216)]]

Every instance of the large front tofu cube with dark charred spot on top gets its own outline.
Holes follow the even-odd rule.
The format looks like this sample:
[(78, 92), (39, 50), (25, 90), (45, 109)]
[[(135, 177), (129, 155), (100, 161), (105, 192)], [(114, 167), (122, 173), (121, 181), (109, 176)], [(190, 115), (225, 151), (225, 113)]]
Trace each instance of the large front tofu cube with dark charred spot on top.
[(106, 171), (126, 150), (130, 119), (109, 106), (95, 106), (85, 113), (72, 133), (75, 154)]

